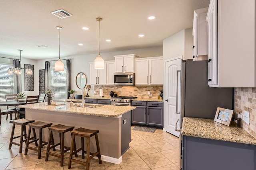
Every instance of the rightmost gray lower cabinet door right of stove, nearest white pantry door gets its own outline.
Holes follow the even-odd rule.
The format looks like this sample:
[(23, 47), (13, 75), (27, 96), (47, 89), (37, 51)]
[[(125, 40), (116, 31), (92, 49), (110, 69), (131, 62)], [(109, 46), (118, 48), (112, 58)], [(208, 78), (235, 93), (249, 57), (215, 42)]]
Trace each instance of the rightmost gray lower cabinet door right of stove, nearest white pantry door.
[(148, 107), (148, 125), (164, 126), (163, 107)]

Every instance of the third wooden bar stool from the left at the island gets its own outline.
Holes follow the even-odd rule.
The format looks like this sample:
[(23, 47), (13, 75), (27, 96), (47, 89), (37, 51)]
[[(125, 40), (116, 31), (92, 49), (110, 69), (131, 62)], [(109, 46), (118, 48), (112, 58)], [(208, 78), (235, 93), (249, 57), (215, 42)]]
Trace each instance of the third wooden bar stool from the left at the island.
[[(50, 137), (49, 137), (49, 140), (48, 140), (49, 144), (47, 145), (45, 161), (48, 161), (49, 155), (52, 155), (52, 156), (60, 158), (60, 166), (63, 166), (63, 164), (64, 164), (64, 153), (67, 152), (68, 150), (70, 150), (70, 147), (65, 147), (64, 146), (64, 133), (72, 131), (74, 128), (75, 128), (74, 126), (65, 126), (65, 125), (60, 125), (60, 124), (48, 127), (49, 132), (50, 132)], [(50, 143), (53, 140), (52, 132), (59, 133), (60, 143), (57, 143), (55, 145), (50, 146)], [(51, 153), (50, 149), (52, 149), (53, 147), (56, 147), (58, 145), (60, 145), (60, 155), (55, 154), (55, 153)], [(76, 150), (76, 144), (74, 144), (74, 145), (75, 145), (74, 148)], [(66, 150), (64, 150), (64, 148)], [(78, 157), (77, 153), (76, 153), (76, 157)]]

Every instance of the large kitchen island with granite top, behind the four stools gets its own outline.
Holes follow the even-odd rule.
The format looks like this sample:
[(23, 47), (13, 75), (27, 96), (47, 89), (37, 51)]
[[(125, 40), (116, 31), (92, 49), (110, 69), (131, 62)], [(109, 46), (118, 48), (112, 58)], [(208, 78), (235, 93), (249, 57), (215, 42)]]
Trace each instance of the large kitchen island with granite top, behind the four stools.
[[(44, 121), (67, 126), (75, 129), (99, 130), (98, 133), (102, 160), (119, 164), (122, 154), (129, 148), (130, 143), (130, 111), (136, 107), (107, 106), (86, 104), (86, 107), (68, 107), (66, 104), (48, 106), (46, 103), (18, 106), (26, 109), (26, 119)], [(94, 137), (92, 137), (94, 138)], [(58, 134), (54, 134), (58, 141)], [(44, 129), (43, 140), (48, 141), (48, 129)], [(65, 135), (65, 145), (70, 146), (71, 135)], [(95, 140), (90, 140), (90, 150), (96, 151)], [(80, 139), (76, 145), (81, 146)]]

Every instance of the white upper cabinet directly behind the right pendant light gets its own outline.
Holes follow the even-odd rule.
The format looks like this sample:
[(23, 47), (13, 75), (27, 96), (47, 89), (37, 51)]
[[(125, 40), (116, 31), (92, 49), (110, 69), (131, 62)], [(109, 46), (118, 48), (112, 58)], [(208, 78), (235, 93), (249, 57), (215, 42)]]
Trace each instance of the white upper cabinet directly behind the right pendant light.
[(94, 64), (90, 64), (90, 83), (91, 85), (106, 85), (107, 83), (107, 64), (104, 63), (104, 69), (95, 69)]

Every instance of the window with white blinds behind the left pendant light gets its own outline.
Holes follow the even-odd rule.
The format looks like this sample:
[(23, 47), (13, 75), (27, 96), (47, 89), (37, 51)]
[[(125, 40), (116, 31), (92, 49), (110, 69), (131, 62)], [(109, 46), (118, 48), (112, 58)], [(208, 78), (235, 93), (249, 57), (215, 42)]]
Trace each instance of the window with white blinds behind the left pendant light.
[(66, 66), (64, 66), (64, 71), (55, 71), (54, 66), (50, 66), (50, 87), (53, 100), (66, 101), (66, 70)]

